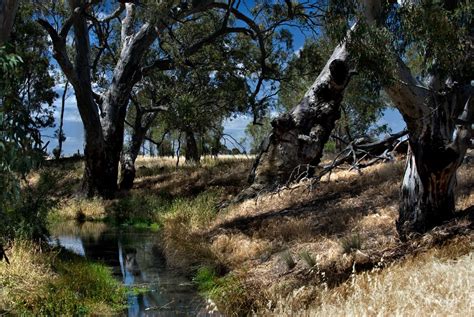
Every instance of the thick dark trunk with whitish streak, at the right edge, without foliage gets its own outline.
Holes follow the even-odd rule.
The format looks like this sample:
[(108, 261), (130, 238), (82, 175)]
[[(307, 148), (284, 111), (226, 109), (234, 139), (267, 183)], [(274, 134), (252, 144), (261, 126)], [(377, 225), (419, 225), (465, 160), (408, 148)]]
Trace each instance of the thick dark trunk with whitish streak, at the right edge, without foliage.
[[(405, 80), (414, 81), (408, 78), (408, 72), (404, 73)], [(410, 149), (397, 221), (402, 239), (455, 216), (456, 171), (471, 142), (472, 87), (450, 87), (449, 81), (433, 80), (437, 82), (432, 81), (429, 89), (445, 93), (430, 96), (427, 90), (414, 86), (411, 92), (397, 86), (387, 89), (409, 130)]]

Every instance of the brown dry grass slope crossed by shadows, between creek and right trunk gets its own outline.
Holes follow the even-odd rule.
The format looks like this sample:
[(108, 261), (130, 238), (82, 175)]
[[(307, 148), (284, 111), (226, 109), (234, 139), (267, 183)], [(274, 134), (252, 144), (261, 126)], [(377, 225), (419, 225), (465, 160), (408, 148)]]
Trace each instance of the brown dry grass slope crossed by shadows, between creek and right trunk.
[[(245, 280), (242, 283), (247, 289), (259, 290), (258, 294), (253, 294), (254, 299), (261, 307), (266, 307), (269, 299), (274, 304), (277, 297), (287, 299), (293, 296), (295, 290), (304, 289), (309, 284), (321, 285), (327, 280), (321, 272), (350, 269), (354, 262), (364, 261), (367, 254), (398, 245), (395, 221), (403, 169), (404, 162), (400, 160), (369, 167), (363, 170), (362, 175), (355, 171), (337, 171), (312, 190), (300, 184), (278, 194), (263, 195), (258, 200), (230, 206), (217, 214), (209, 229), (182, 230), (179, 239), (188, 242), (188, 250), (192, 249), (192, 242), (195, 241), (200, 250), (205, 250), (201, 255), (207, 254), (211, 262), (217, 262), (243, 277)], [(459, 171), (457, 208), (474, 204), (473, 184), (472, 166), (464, 165)], [(353, 237), (357, 237), (358, 245), (344, 254), (344, 241), (351, 241)], [(174, 244), (173, 252), (177, 253), (180, 247), (179, 243)], [(292, 255), (294, 267), (288, 266), (281, 256), (285, 250)], [(302, 252), (311, 254), (316, 263), (309, 273), (307, 259), (299, 256)], [(418, 259), (413, 260), (412, 265), (415, 262)], [(463, 263), (465, 266), (466, 263)], [(430, 264), (423, 266), (420, 262), (419, 265), (420, 274), (431, 269)], [(453, 263), (448, 261), (446, 265)], [(397, 270), (394, 266), (385, 271), (401, 274), (403, 269)], [(387, 278), (396, 277), (388, 275)], [(317, 292), (321, 292), (320, 287)], [(315, 303), (314, 293), (305, 296), (295, 297), (299, 306), (290, 305), (288, 314)], [(393, 296), (395, 303), (396, 294)], [(354, 301), (349, 302), (348, 309), (350, 305), (355, 305), (356, 299), (354, 297)], [(334, 299), (334, 303), (338, 301), (342, 299)], [(281, 305), (284, 307), (286, 304), (285, 300)], [(399, 308), (400, 314), (409, 312)], [(367, 315), (367, 309), (368, 306), (362, 305), (360, 310), (354, 310), (354, 314)], [(365, 314), (362, 313), (364, 311)], [(397, 310), (391, 312), (397, 314)], [(275, 311), (273, 313), (276, 314)], [(350, 311), (337, 313), (331, 310), (321, 314), (352, 315)]]

